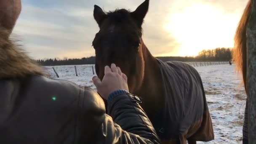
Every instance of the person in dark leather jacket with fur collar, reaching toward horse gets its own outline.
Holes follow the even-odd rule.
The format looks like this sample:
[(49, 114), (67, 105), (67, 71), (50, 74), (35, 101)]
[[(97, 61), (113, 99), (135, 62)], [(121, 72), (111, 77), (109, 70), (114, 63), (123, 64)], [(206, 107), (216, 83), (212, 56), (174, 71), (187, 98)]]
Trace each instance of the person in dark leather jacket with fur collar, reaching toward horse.
[(0, 144), (159, 144), (115, 64), (91, 88), (45, 76), (9, 35), (20, 0), (0, 0)]

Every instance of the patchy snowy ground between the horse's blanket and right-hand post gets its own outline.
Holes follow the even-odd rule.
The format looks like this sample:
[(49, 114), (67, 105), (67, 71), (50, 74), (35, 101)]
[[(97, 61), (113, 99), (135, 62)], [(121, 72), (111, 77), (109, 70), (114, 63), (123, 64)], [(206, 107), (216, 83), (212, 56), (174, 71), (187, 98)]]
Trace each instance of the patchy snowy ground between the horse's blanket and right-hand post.
[(242, 144), (246, 94), (234, 64), (195, 68), (203, 80), (215, 134), (205, 144)]

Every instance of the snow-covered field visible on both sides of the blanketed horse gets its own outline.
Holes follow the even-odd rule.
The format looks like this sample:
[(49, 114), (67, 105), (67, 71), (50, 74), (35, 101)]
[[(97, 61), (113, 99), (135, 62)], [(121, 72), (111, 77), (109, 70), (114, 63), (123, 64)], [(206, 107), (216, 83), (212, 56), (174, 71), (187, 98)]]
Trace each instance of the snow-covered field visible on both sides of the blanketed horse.
[[(60, 77), (58, 79), (95, 88), (91, 81), (92, 65), (76, 67), (77, 77), (74, 66), (54, 66)], [(215, 139), (205, 144), (242, 144), (246, 95), (241, 77), (235, 73), (235, 66), (224, 64), (195, 68), (203, 80), (215, 133)], [(56, 78), (52, 67), (45, 67), (45, 70), (51, 77)]]

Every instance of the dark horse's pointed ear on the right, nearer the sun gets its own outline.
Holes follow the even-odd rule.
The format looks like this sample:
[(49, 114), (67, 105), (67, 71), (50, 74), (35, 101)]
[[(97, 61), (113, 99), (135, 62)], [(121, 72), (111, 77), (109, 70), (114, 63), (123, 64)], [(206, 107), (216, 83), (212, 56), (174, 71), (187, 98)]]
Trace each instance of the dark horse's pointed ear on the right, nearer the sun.
[(131, 16), (133, 17), (133, 19), (135, 19), (139, 27), (141, 27), (148, 9), (149, 9), (149, 0), (145, 0), (143, 3), (141, 3), (141, 5), (139, 5), (139, 7), (135, 11), (131, 13)]

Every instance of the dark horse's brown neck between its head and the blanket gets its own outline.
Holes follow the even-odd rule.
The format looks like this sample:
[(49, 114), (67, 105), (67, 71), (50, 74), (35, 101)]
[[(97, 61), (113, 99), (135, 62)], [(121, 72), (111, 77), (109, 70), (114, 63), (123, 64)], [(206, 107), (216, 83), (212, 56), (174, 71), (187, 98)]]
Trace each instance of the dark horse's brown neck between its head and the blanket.
[(156, 116), (163, 105), (162, 77), (157, 59), (143, 43), (144, 81), (138, 95), (142, 97), (141, 107), (149, 117)]

